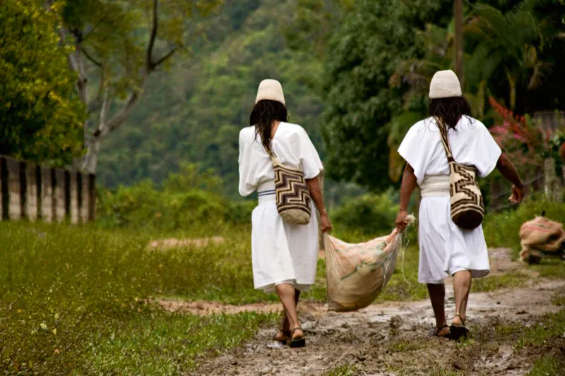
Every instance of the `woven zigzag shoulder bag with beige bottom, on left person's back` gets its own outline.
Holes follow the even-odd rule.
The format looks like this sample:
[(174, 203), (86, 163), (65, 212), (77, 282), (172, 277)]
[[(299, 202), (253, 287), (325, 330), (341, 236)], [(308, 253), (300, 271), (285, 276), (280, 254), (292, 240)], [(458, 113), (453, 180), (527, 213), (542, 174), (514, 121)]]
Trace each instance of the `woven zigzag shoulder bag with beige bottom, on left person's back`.
[(304, 179), (304, 172), (301, 169), (283, 166), (273, 154), (270, 160), (275, 169), (278, 214), (283, 222), (288, 224), (309, 224), (311, 198), (306, 179)]

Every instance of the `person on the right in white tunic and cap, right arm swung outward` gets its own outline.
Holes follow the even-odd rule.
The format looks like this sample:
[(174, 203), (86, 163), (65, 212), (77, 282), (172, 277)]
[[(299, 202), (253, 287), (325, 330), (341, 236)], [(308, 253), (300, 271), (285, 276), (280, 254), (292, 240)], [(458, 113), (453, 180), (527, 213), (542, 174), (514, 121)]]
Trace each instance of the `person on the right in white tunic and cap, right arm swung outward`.
[[(453, 71), (439, 71), (434, 75), (429, 98), (430, 117), (415, 123), (398, 149), (408, 164), (400, 188), (396, 224), (401, 231), (405, 229), (408, 202), (417, 184), (422, 192), (418, 281), (428, 286), (436, 317), (434, 335), (458, 339), (468, 334), (465, 314), (472, 278), (489, 274), (489, 255), (482, 226), (463, 230), (451, 220), (449, 166), (438, 127), (448, 128), (449, 145), (456, 162), (475, 166), (481, 177), (497, 168), (513, 183), (511, 202), (521, 202), (523, 184), (487, 128), (470, 116), (470, 105), (463, 98)], [(453, 275), (456, 298), (451, 327), (447, 325), (444, 312), (444, 278), (448, 275)]]

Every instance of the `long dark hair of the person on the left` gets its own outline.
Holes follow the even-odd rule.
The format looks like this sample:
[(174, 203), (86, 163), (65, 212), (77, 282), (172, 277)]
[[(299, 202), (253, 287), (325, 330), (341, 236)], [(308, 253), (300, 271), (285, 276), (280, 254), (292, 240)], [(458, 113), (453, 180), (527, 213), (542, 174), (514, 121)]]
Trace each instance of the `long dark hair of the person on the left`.
[(261, 136), (261, 143), (268, 154), (273, 154), (270, 131), (273, 130), (273, 122), (277, 120), (288, 121), (287, 108), (280, 102), (268, 99), (257, 102), (249, 115), (249, 125), (255, 127), (255, 137)]

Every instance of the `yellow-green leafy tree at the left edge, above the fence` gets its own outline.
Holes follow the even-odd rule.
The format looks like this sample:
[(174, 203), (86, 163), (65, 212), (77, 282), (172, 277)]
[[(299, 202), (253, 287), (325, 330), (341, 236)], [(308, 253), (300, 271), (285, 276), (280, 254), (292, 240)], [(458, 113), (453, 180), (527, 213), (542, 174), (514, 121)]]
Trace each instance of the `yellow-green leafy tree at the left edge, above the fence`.
[(59, 17), (40, 1), (6, 0), (0, 25), (0, 154), (70, 162), (81, 154), (86, 113), (73, 94)]

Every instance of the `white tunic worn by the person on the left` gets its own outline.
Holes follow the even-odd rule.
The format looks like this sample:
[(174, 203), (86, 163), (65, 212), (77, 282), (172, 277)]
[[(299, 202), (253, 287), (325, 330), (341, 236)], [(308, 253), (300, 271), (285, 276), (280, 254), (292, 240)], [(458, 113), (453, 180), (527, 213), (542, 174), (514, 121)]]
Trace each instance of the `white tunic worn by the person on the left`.
[[(320, 157), (301, 126), (280, 123), (272, 141), (273, 152), (286, 166), (301, 168), (304, 178), (319, 176)], [(316, 281), (319, 229), (316, 208), (307, 225), (285, 224), (277, 212), (275, 171), (254, 127), (239, 133), (239, 194), (258, 192), (259, 205), (251, 217), (251, 258), (256, 289), (272, 292), (275, 285), (289, 282), (307, 291)], [(267, 194), (265, 194), (267, 193)]]

